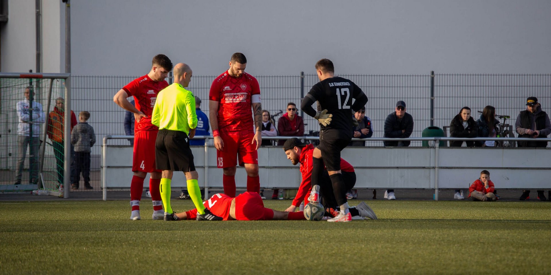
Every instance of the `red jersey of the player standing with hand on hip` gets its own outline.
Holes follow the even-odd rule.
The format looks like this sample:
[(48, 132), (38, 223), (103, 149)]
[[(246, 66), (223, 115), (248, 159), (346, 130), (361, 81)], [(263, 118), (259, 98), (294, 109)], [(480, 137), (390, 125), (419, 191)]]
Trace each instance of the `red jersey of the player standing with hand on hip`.
[(134, 131), (159, 130), (159, 127), (151, 123), (151, 115), (153, 113), (153, 106), (155, 106), (157, 94), (168, 85), (168, 82), (165, 80), (153, 81), (146, 74), (141, 78), (132, 80), (131, 83), (122, 87), (122, 90), (125, 90), (128, 96), (134, 96), (136, 109), (147, 116), (147, 118), (142, 118), (139, 122), (136, 121), (134, 123)]

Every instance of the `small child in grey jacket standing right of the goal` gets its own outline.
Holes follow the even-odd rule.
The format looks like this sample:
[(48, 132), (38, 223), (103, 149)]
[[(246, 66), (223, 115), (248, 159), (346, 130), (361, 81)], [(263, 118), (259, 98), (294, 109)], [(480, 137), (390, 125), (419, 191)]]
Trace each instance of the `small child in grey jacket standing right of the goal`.
[(96, 143), (96, 135), (94, 128), (87, 123), (89, 118), (89, 112), (80, 112), (79, 123), (71, 131), (71, 144), (74, 145), (75, 153), (75, 173), (71, 189), (78, 189), (80, 172), (84, 178), (84, 189), (93, 189), (90, 185), (90, 149)]

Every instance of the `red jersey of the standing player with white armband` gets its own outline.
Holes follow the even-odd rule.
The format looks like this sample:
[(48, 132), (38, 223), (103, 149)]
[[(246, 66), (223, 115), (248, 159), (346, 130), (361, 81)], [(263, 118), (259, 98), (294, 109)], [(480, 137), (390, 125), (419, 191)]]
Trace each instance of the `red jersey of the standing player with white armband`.
[(260, 95), (258, 81), (252, 75), (243, 73), (239, 78), (228, 71), (219, 75), (210, 86), (209, 99), (218, 101), (218, 129), (223, 133), (251, 131), (252, 95)]

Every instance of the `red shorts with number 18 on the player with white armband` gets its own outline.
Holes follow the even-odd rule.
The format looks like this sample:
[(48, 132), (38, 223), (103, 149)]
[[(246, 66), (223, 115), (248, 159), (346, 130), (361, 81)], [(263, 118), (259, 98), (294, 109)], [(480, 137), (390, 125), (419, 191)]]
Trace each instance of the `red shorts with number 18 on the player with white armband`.
[(239, 166), (245, 163), (258, 164), (258, 152), (256, 143), (251, 143), (254, 133), (238, 133), (235, 135), (220, 134), (224, 142), (224, 149), (216, 151), (218, 168), (234, 167), (239, 159)]

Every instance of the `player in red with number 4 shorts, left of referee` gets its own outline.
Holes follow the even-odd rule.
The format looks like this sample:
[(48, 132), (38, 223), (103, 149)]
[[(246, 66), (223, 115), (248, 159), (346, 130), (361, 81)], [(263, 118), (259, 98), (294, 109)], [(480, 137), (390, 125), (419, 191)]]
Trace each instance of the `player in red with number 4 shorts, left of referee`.
[[(130, 219), (141, 219), (139, 203), (142, 200), (143, 183), (150, 173), (149, 190), (153, 201), (153, 219), (164, 219), (163, 202), (159, 184), (161, 171), (155, 169), (155, 140), (159, 128), (151, 123), (155, 100), (160, 90), (169, 84), (164, 80), (172, 70), (172, 62), (164, 54), (153, 57), (150, 72), (132, 80), (113, 97), (121, 108), (134, 113), (134, 153), (132, 157), (132, 182), (130, 183)], [(136, 107), (127, 98), (133, 96)]]

